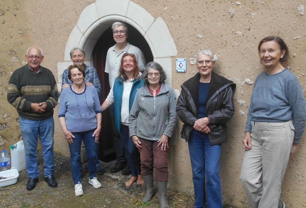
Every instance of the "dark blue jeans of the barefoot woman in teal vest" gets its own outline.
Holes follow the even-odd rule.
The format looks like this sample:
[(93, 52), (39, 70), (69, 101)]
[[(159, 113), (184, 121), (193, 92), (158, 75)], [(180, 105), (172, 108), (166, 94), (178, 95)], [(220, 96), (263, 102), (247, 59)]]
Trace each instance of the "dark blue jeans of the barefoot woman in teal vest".
[(121, 125), (120, 128), (120, 139), (121, 143), (125, 146), (126, 158), (128, 160), (132, 176), (141, 174), (140, 169), (140, 154), (133, 142), (133, 139), (129, 136), (129, 126)]

